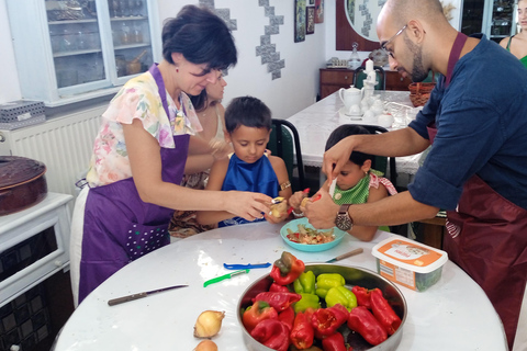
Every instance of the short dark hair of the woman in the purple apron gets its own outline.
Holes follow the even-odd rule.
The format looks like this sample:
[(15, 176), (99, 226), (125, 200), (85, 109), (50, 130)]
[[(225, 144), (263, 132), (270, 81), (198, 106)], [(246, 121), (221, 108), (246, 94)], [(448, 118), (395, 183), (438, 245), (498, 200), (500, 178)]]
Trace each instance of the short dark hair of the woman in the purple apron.
[(162, 57), (173, 65), (172, 53), (192, 64), (224, 70), (237, 63), (234, 38), (225, 21), (205, 8), (184, 5), (162, 26)]

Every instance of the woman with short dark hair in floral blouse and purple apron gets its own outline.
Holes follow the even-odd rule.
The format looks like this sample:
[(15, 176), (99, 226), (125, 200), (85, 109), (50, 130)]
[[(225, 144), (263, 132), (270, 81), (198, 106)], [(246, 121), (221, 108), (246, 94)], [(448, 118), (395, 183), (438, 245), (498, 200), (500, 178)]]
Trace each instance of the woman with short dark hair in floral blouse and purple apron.
[(164, 60), (131, 79), (110, 102), (94, 141), (89, 186), (71, 224), (70, 272), (76, 305), (131, 261), (170, 242), (173, 208), (227, 211), (248, 220), (271, 197), (180, 186), (187, 155), (213, 149), (190, 135), (202, 127), (187, 94), (198, 95), (236, 64), (225, 22), (186, 5), (162, 30)]

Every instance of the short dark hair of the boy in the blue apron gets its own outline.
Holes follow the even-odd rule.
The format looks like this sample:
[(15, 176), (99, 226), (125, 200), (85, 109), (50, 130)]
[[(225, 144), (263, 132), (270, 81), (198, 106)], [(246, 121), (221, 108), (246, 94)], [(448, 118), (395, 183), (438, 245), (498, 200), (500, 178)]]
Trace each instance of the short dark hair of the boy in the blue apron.
[(240, 125), (253, 128), (272, 128), (271, 110), (253, 97), (235, 98), (225, 109), (225, 129), (233, 133)]

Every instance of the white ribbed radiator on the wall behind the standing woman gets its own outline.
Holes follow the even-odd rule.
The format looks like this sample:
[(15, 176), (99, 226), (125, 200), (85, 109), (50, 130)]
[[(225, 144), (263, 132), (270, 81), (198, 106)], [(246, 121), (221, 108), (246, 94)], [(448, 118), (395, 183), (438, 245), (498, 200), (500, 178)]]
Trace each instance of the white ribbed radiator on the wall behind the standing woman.
[(76, 196), (75, 182), (88, 169), (106, 106), (86, 109), (20, 129), (0, 131), (0, 155), (43, 162), (47, 168), (48, 191)]

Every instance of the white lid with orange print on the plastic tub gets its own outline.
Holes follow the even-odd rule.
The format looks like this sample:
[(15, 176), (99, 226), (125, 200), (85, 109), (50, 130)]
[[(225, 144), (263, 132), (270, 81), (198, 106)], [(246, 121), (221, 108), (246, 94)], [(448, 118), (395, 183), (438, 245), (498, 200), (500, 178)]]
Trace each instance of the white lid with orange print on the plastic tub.
[(448, 253), (427, 245), (394, 235), (371, 249), (380, 260), (417, 272), (429, 273), (448, 260)]

